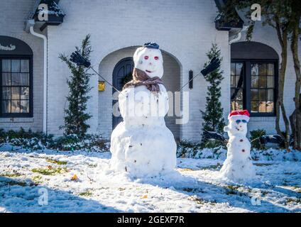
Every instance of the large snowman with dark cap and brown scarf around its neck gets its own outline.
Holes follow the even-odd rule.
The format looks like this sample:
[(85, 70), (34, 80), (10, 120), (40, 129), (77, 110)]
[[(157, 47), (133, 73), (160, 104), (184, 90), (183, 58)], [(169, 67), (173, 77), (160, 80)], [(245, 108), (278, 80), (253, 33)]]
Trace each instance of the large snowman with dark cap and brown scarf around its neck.
[(176, 165), (176, 143), (165, 126), (168, 93), (163, 85), (159, 46), (146, 43), (133, 55), (133, 80), (119, 94), (124, 121), (111, 134), (111, 168), (141, 177), (169, 172)]

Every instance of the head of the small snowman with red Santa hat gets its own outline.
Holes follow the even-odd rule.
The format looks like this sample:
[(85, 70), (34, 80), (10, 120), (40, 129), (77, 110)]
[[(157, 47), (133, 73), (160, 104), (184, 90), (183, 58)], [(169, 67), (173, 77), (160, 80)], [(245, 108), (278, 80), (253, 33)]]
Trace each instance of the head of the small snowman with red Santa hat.
[(229, 135), (246, 135), (249, 119), (250, 114), (247, 110), (231, 111), (228, 116), (229, 125), (224, 127), (224, 131), (228, 132)]

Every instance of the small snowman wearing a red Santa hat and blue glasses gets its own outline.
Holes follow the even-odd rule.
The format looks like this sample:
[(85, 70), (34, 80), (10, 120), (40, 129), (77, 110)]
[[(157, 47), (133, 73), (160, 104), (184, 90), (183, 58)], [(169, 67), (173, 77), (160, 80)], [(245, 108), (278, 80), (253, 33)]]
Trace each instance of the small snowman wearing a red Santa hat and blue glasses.
[(249, 119), (250, 114), (247, 110), (231, 111), (228, 116), (229, 125), (224, 127), (229, 141), (226, 145), (227, 157), (220, 174), (221, 177), (234, 182), (253, 179), (256, 176), (250, 155), (251, 143), (246, 138)]

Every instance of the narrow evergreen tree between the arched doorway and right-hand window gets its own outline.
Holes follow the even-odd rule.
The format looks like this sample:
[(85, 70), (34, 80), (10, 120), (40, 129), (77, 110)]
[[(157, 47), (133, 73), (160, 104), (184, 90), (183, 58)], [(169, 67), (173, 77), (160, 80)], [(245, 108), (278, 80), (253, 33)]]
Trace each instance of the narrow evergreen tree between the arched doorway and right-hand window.
[[(213, 57), (217, 57), (220, 61), (222, 60), (221, 50), (219, 50), (216, 43), (212, 43), (212, 48), (207, 52), (207, 57), (209, 58), (209, 61), (212, 60)], [(214, 131), (217, 133), (223, 133), (225, 126), (223, 109), (221, 108), (221, 101), (219, 101), (219, 98), (221, 97), (220, 84), (221, 80), (224, 79), (222, 74), (223, 71), (221, 71), (221, 68), (219, 67), (205, 77), (206, 81), (209, 82), (209, 86), (207, 87), (206, 110), (201, 111), (204, 120), (204, 123), (202, 123), (203, 130)], [(204, 146), (208, 145), (204, 136), (202, 136), (201, 144)]]

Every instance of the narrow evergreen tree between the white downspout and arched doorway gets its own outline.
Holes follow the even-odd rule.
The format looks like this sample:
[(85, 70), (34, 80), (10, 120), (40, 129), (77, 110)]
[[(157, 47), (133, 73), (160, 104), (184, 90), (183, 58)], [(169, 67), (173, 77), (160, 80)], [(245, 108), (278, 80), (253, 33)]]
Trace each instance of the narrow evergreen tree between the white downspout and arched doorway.
[[(82, 40), (81, 48), (75, 47), (88, 61), (92, 52), (89, 38), (90, 35), (86, 35)], [(90, 99), (88, 92), (91, 89), (89, 79), (92, 74), (89, 74), (83, 66), (77, 66), (71, 62), (69, 56), (61, 54), (60, 59), (67, 64), (71, 71), (71, 76), (67, 79), (70, 92), (66, 97), (68, 107), (65, 109), (65, 126), (61, 128), (65, 128), (65, 135), (75, 134), (82, 138), (89, 128), (87, 120), (91, 118), (86, 111), (87, 101)]]

